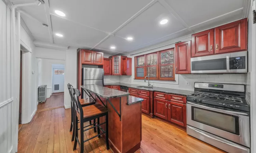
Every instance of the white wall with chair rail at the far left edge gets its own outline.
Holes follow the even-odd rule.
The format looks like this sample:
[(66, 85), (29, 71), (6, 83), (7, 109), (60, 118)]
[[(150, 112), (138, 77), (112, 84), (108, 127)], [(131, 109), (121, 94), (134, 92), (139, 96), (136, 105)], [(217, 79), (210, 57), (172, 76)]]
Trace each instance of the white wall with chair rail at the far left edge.
[[(11, 11), (0, 1), (0, 153), (14, 152), (13, 93), (11, 80)], [(13, 62), (13, 61), (12, 61)], [(17, 123), (18, 124), (18, 123)]]

